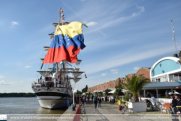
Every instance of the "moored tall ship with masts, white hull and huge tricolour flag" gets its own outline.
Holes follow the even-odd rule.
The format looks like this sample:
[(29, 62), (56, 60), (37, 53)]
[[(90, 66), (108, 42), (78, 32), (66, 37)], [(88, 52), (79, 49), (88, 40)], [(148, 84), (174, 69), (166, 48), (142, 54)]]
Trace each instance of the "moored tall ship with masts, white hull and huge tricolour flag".
[[(37, 82), (32, 83), (32, 90), (36, 94), (40, 106), (48, 109), (69, 107), (73, 103), (75, 84), (81, 79), (80, 75), (84, 73), (76, 68), (81, 63), (81, 60), (77, 59), (77, 54), (80, 49), (85, 47), (83, 35), (80, 34), (82, 29), (76, 27), (82, 23), (64, 22), (61, 9), (59, 14), (59, 23), (53, 23), (56, 30), (49, 34), (52, 39), (51, 45), (44, 46), (47, 54), (45, 58), (41, 58), (42, 65), (37, 71), (40, 78), (37, 79)], [(60, 17), (62, 23), (60, 23)], [(73, 36), (69, 28), (71, 30), (73, 28)], [(68, 33), (66, 33), (67, 31)], [(76, 31), (79, 32), (75, 34)], [(69, 43), (70, 45), (68, 45)], [(49, 63), (47, 68), (46, 63)], [(45, 66), (44, 69), (43, 66)]]

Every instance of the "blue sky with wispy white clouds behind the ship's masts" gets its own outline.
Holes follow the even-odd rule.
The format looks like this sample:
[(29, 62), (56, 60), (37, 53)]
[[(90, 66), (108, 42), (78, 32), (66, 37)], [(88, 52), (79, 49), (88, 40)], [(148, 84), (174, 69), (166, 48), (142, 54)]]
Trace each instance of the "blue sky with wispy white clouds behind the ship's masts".
[(60, 7), (65, 21), (88, 26), (86, 47), (78, 55), (87, 78), (82, 75), (75, 85), (82, 90), (173, 56), (170, 20), (180, 51), (180, 6), (180, 0), (0, 0), (0, 93), (33, 92)]

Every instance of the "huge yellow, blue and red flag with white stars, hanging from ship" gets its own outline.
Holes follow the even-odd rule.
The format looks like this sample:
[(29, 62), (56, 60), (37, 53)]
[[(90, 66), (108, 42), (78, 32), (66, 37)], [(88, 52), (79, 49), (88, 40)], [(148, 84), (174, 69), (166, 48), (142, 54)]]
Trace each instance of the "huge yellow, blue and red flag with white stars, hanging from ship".
[(55, 63), (62, 60), (75, 63), (80, 49), (85, 47), (82, 25), (85, 24), (75, 21), (68, 25), (57, 26), (43, 63)]

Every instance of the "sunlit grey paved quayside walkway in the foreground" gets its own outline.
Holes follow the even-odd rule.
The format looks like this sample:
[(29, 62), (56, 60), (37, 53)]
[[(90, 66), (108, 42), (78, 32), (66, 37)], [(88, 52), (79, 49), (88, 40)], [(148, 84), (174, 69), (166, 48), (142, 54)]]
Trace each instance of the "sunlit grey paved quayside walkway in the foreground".
[(102, 102), (101, 106), (95, 109), (92, 101), (83, 105), (83, 121), (171, 121), (171, 115), (168, 114), (122, 114), (118, 105)]

